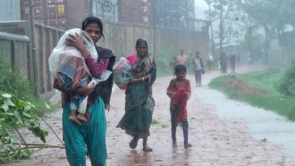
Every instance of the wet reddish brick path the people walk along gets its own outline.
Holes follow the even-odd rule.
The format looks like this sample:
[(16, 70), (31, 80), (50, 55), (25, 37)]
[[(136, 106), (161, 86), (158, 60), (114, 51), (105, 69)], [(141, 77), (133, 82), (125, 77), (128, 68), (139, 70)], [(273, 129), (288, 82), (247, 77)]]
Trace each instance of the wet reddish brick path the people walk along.
[[(251, 70), (260, 70), (261, 67), (238, 68), (238, 73)], [(131, 137), (123, 130), (115, 128), (124, 115), (124, 91), (116, 88), (113, 92), (111, 109), (106, 113), (108, 121), (107, 148), (108, 165), (294, 165), (295, 157), (285, 155), (281, 150), (284, 147), (254, 139), (249, 136), (247, 127), (243, 123), (221, 120), (216, 115), (216, 108), (212, 105), (201, 103), (199, 88), (220, 75), (219, 71), (203, 75), (203, 86), (196, 87), (193, 76), (187, 76), (192, 84), (192, 97), (188, 102), (189, 142), (193, 145), (190, 149), (183, 148), (183, 134), (177, 129), (178, 148), (172, 148), (169, 98), (166, 88), (170, 77), (157, 79), (153, 86), (153, 96), (156, 101), (153, 119), (160, 124), (152, 125), (151, 136), (148, 139), (153, 152), (142, 151), (142, 140), (138, 147), (129, 148)], [(54, 126), (62, 138), (61, 109), (47, 115), (47, 121)], [(168, 127), (162, 127), (167, 125)], [(57, 139), (47, 137), (48, 143), (59, 144)], [(33, 139), (33, 138), (27, 138)], [(55, 152), (56, 149), (44, 149), (35, 155), (45, 155)], [(87, 164), (90, 165), (89, 158)], [(5, 165), (5, 164), (4, 164)], [(41, 156), (19, 163), (6, 165), (69, 165), (65, 151), (53, 155)]]

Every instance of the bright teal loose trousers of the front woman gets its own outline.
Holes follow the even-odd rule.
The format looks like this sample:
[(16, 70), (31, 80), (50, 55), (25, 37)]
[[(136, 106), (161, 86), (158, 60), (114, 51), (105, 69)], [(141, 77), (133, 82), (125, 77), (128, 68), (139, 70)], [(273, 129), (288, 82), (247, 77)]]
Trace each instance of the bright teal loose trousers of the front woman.
[(87, 125), (81, 121), (83, 125), (79, 126), (69, 120), (69, 101), (63, 109), (63, 139), (66, 157), (71, 166), (85, 166), (86, 153), (92, 166), (106, 165), (108, 156), (105, 145), (105, 107), (100, 96), (89, 106), (88, 113), (91, 124)]

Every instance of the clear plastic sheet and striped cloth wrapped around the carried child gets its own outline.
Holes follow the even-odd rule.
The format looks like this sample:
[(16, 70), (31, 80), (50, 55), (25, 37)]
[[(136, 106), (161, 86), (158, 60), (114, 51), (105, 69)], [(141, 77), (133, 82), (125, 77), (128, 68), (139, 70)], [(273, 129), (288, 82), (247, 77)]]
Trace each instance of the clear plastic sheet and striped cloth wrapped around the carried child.
[[(88, 82), (88, 76), (92, 77), (81, 52), (73, 46), (67, 46), (66, 38), (75, 32), (83, 38), (84, 44), (93, 58), (97, 61), (98, 54), (91, 38), (81, 29), (71, 29), (66, 31), (60, 38), (57, 46), (53, 49), (48, 58), (49, 70), (53, 76), (59, 80), (60, 86), (66, 90), (75, 90), (77, 87), (84, 87)], [(112, 72), (105, 70), (99, 78), (93, 78), (97, 83), (109, 78)]]

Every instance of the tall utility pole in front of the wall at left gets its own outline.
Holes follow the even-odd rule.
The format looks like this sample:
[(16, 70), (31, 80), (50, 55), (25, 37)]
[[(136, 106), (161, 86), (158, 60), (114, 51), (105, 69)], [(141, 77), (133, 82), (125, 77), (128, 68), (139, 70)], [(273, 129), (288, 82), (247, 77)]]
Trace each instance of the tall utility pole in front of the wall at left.
[(39, 81), (38, 81), (38, 69), (37, 69), (37, 49), (35, 44), (35, 18), (34, 18), (34, 2), (29, 0), (30, 6), (30, 23), (31, 23), (31, 41), (32, 41), (32, 54), (33, 54), (33, 71), (35, 81), (35, 96), (39, 98)]

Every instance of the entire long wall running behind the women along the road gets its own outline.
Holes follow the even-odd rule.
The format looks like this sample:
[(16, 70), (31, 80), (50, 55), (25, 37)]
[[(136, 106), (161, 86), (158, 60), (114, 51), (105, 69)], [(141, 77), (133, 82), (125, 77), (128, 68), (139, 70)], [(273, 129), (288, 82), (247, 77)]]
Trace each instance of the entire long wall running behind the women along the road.
[[(153, 27), (149, 25), (130, 24), (114, 21), (103, 21), (105, 42), (97, 43), (109, 48), (117, 56), (125, 57), (135, 53), (135, 42), (145, 38), (149, 44), (149, 51), (153, 52), (153, 42), (156, 41), (157, 51), (171, 50), (176, 56), (180, 49), (187, 53), (198, 50), (205, 56), (209, 52), (208, 31), (180, 31), (176, 28), (157, 28), (156, 39), (153, 39)], [(6, 32), (6, 33), (5, 33)], [(63, 30), (35, 24), (35, 42), (37, 48), (37, 73), (33, 72), (31, 30), (28, 21), (0, 22), (1, 53), (6, 56), (14, 70), (20, 71), (28, 79), (34, 80), (38, 76), (40, 96), (53, 96), (53, 76), (49, 71), (48, 58), (57, 45)], [(156, 55), (160, 58), (160, 54)]]

